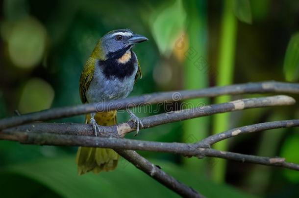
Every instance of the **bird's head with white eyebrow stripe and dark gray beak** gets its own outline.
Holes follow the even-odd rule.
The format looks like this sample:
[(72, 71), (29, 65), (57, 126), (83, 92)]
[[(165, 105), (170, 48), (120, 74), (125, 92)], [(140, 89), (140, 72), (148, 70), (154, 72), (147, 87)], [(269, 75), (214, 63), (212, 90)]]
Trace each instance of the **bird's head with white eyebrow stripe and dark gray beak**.
[(100, 38), (92, 56), (100, 60), (120, 58), (135, 44), (148, 40), (142, 35), (134, 34), (130, 29), (112, 30)]

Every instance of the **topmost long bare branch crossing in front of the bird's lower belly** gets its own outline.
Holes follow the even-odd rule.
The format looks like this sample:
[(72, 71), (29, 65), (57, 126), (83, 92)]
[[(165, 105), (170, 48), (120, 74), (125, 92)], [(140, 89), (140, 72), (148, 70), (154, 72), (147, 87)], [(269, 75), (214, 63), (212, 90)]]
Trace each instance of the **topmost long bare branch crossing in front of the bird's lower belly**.
[[(178, 101), (199, 97), (215, 97), (225, 94), (236, 95), (242, 93), (299, 93), (299, 84), (281, 82), (259, 82), (224, 87), (213, 87), (197, 90), (181, 90), (145, 94), (106, 103), (78, 105), (75, 107), (54, 108), (34, 113), (23, 114), (0, 120), (0, 130), (34, 121), (46, 121), (63, 117), (71, 117), (96, 111), (125, 109), (159, 102)], [(178, 98), (176, 96), (179, 96)]]

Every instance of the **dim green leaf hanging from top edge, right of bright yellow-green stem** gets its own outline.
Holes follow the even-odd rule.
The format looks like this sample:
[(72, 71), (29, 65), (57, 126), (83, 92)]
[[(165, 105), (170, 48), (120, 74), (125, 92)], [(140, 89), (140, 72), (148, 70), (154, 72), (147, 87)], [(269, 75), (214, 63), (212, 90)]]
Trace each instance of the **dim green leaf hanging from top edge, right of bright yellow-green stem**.
[(233, 11), (235, 16), (241, 21), (251, 24), (252, 16), (249, 0), (233, 0)]

